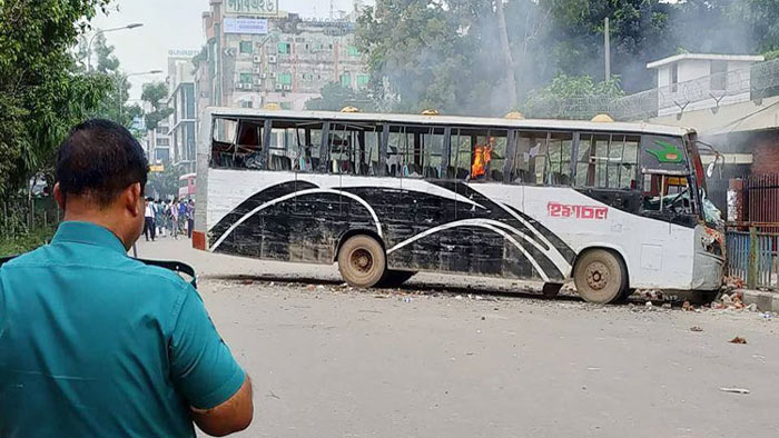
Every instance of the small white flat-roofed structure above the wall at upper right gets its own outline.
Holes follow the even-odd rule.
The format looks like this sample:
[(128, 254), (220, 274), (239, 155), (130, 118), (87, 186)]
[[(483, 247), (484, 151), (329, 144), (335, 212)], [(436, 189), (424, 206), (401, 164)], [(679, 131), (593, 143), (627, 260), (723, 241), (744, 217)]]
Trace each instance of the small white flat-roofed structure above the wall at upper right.
[(761, 56), (681, 53), (647, 64), (658, 72), (658, 116), (750, 100), (750, 67)]

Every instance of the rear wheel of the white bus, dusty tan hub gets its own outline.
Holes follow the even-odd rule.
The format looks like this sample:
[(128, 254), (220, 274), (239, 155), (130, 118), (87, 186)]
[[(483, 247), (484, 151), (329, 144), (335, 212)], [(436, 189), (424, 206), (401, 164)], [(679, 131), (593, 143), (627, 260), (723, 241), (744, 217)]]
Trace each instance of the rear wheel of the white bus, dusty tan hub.
[(386, 268), (384, 248), (376, 239), (359, 235), (351, 237), (338, 251), (338, 270), (349, 286), (369, 288), (375, 286)]

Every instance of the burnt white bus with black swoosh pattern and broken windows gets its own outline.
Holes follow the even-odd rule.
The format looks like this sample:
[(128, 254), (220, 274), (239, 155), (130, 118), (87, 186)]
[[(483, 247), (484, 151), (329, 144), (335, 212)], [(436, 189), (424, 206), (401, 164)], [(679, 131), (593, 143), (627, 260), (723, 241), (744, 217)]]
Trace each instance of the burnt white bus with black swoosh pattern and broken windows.
[(573, 279), (591, 302), (717, 290), (693, 131), (644, 123), (210, 109), (201, 250), (337, 263), (359, 288), (415, 272)]

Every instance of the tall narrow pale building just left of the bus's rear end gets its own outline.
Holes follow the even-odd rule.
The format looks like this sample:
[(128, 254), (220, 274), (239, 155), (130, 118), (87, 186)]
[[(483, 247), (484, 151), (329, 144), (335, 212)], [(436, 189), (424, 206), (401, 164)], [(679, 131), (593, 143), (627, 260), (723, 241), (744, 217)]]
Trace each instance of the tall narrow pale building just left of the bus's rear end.
[(196, 111), (195, 66), (197, 50), (170, 50), (168, 52), (168, 118), (170, 162), (184, 172), (195, 171)]

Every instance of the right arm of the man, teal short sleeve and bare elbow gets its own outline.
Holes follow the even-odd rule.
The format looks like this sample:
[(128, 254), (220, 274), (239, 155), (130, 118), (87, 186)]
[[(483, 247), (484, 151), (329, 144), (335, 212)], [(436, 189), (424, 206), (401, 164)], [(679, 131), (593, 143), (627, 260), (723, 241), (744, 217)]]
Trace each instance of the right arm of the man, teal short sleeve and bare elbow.
[(252, 422), (252, 382), (219, 337), (200, 297), (187, 286), (170, 340), (176, 388), (208, 435), (225, 436)]

